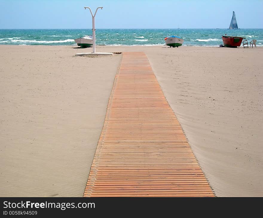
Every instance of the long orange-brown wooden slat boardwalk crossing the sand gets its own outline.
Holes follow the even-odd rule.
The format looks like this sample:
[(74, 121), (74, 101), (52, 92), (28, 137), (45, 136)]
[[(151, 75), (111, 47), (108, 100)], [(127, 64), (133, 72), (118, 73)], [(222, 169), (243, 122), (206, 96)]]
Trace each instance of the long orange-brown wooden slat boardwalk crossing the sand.
[(83, 196), (214, 196), (143, 52), (123, 53)]

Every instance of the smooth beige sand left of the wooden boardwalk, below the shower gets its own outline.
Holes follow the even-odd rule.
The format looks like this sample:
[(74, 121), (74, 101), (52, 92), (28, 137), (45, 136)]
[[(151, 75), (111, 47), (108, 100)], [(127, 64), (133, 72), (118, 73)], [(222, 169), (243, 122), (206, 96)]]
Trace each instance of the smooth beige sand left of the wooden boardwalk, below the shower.
[(0, 196), (82, 196), (121, 55), (0, 50)]

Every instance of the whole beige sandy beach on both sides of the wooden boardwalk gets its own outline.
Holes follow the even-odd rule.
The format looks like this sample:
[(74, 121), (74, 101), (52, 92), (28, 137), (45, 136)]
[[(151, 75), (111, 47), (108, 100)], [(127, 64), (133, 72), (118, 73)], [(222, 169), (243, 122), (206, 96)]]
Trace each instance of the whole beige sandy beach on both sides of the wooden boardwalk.
[[(121, 54), (1, 45), (0, 196), (82, 196)], [(146, 53), (216, 196), (263, 196), (263, 47)]]

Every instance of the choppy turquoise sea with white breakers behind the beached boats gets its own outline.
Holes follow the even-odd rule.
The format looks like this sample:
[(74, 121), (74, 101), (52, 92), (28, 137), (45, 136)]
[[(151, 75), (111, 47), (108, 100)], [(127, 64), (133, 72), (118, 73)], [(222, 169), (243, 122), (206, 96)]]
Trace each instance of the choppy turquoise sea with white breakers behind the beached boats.
[[(96, 45), (165, 45), (167, 36), (180, 36), (184, 46), (223, 44), (222, 35), (256, 39), (263, 46), (263, 29), (96, 29)], [(0, 45), (76, 45), (74, 39), (92, 35), (91, 29), (0, 29)], [(249, 43), (248, 43), (249, 44)]]

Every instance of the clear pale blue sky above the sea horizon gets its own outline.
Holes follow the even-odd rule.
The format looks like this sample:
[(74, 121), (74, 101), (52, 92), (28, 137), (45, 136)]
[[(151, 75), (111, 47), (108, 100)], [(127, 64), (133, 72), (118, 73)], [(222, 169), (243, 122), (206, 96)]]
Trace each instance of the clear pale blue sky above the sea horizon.
[(263, 28), (263, 0), (0, 0), (0, 29)]

